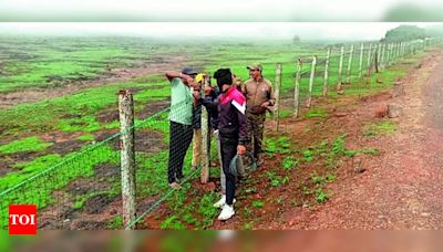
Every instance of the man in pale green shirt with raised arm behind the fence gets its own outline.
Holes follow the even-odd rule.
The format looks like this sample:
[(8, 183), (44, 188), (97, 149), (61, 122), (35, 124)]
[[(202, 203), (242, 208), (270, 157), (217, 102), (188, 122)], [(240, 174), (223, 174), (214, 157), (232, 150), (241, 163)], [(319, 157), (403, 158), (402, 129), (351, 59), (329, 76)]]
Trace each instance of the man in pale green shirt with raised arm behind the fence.
[(183, 179), (183, 162), (193, 139), (193, 88), (197, 74), (192, 67), (184, 67), (181, 73), (166, 72), (171, 82), (169, 112), (169, 159), (167, 179), (169, 187), (179, 189)]

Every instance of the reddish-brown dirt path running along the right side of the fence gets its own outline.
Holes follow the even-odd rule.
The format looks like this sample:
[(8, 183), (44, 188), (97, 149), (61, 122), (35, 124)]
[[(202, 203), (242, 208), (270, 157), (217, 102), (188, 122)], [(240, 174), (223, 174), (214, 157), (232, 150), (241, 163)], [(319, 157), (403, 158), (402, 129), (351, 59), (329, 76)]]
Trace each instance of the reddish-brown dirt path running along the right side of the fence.
[[(327, 203), (286, 212), (285, 223), (270, 228), (442, 229), (442, 73), (443, 52), (437, 52), (408, 75), (405, 96), (384, 101), (401, 105), (403, 116), (393, 119), (395, 134), (363, 143), (382, 154), (364, 160), (365, 172), (339, 175)], [(360, 109), (374, 113), (373, 105)]]

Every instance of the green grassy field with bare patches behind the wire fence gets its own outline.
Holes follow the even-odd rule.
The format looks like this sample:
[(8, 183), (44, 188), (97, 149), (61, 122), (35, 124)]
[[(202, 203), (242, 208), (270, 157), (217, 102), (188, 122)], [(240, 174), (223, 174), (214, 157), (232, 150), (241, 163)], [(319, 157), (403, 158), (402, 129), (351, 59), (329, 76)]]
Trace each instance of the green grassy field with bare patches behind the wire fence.
[[(349, 45), (348, 43), (347, 48)], [(158, 67), (158, 63), (164, 61), (161, 70), (175, 67), (169, 70), (178, 71), (176, 59), (181, 59), (179, 63), (208, 73), (213, 73), (220, 66), (227, 66), (243, 80), (247, 80), (246, 66), (253, 62), (260, 62), (264, 65), (265, 77), (274, 82), (275, 64), (282, 63), (281, 94), (287, 104), (292, 104), (297, 59), (302, 57), (303, 61), (301, 80), (301, 98), (303, 99), (308, 91), (311, 59), (312, 55), (318, 56), (318, 77), (315, 81), (313, 96), (320, 96), (328, 46), (333, 48), (329, 77), (329, 90), (333, 91), (338, 82), (339, 44), (293, 44), (286, 41), (172, 43), (135, 38), (0, 36), (0, 96), (32, 91), (35, 87), (62, 90), (66, 85), (85, 84), (84, 88), (73, 93), (41, 97), (40, 101), (33, 103), (18, 103), (0, 111), (0, 191), (65, 161), (64, 166), (54, 168), (51, 175), (33, 180), (25, 189), (21, 189), (25, 190), (25, 193), (9, 196), (7, 199), (16, 202), (37, 202), (41, 209), (55, 202), (59, 206), (70, 206), (80, 212), (83, 207), (94, 203), (91, 199), (107, 200), (104, 209), (119, 200), (120, 150), (116, 139), (109, 139), (119, 132), (116, 93), (121, 88), (133, 91), (136, 123), (140, 124), (146, 117), (167, 107), (171, 90), (162, 72), (141, 73), (126, 78), (116, 77), (111, 83), (87, 86), (89, 82), (100, 83), (101, 80), (113, 75), (113, 69), (126, 69), (131, 72), (137, 67), (148, 69), (153, 65)], [(351, 84), (347, 86), (347, 95), (379, 92), (389, 87), (396, 77), (405, 74), (405, 67), (394, 65), (388, 71), (373, 75), (368, 83), (363, 83), (358, 78), (358, 52), (357, 50), (353, 55), (352, 77)], [(367, 55), (365, 52), (363, 66), (368, 61)], [(422, 55), (416, 54), (409, 61), (415, 62)], [(348, 57), (349, 55), (344, 56), (343, 73), (348, 65)], [(402, 61), (402, 64), (408, 64), (408, 61)], [(334, 92), (330, 95), (332, 98), (337, 96)], [(286, 117), (290, 112), (291, 107), (286, 106), (281, 116)], [(307, 117), (321, 116), (321, 112), (311, 111)], [(166, 116), (167, 114), (161, 114), (152, 117), (137, 128), (137, 197), (145, 208), (153, 203), (153, 201), (146, 201), (146, 198), (158, 199), (167, 190), (165, 170), (168, 123)], [(109, 140), (89, 150), (93, 144), (104, 139)], [(85, 151), (91, 153), (78, 157), (79, 154)], [(187, 155), (186, 164), (189, 162), (189, 155)], [(97, 167), (104, 167), (106, 171)], [(109, 170), (114, 174), (109, 176)], [(185, 172), (190, 172), (189, 165), (186, 165)], [(217, 172), (219, 172), (218, 169), (214, 176), (218, 176)], [(102, 178), (102, 176), (107, 177)], [(79, 179), (81, 185), (76, 183)], [(87, 185), (92, 186), (86, 187)], [(69, 190), (72, 187), (82, 193)], [(187, 185), (187, 187), (190, 186)], [(60, 191), (62, 193), (58, 193)], [(173, 210), (179, 213), (162, 220), (159, 228), (204, 229), (212, 225), (217, 211), (210, 206), (217, 196), (215, 193), (197, 195), (198, 201), (195, 202), (188, 202), (185, 196), (178, 192), (167, 200), (169, 206), (174, 206)], [(35, 199), (39, 200), (35, 201)], [(187, 208), (183, 208), (185, 204)], [(6, 204), (0, 206), (3, 212), (6, 207)], [(59, 207), (56, 211), (65, 210)], [(182, 221), (177, 221), (177, 218)], [(186, 220), (187, 225), (177, 224), (183, 220)], [(100, 228), (121, 228), (121, 217), (114, 212), (104, 221), (105, 225), (100, 225)]]

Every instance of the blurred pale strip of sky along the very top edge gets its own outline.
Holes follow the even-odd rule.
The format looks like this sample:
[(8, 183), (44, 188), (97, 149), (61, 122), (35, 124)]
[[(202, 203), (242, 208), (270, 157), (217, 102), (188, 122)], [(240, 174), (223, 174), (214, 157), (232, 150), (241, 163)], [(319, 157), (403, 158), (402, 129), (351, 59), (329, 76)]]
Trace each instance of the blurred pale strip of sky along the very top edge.
[(402, 4), (442, 7), (441, 0), (0, 0), (0, 21), (381, 21)]

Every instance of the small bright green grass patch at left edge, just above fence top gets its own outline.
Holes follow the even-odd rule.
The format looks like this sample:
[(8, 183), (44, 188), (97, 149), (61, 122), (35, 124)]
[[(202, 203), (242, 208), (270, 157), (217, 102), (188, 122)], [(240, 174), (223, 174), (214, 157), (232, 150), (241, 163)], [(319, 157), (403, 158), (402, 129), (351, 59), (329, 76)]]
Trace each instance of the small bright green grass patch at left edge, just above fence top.
[(0, 146), (0, 154), (14, 154), (24, 151), (41, 151), (52, 146), (52, 143), (42, 141), (39, 137), (28, 137)]

